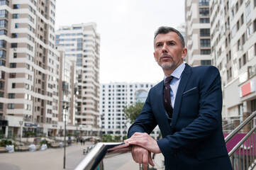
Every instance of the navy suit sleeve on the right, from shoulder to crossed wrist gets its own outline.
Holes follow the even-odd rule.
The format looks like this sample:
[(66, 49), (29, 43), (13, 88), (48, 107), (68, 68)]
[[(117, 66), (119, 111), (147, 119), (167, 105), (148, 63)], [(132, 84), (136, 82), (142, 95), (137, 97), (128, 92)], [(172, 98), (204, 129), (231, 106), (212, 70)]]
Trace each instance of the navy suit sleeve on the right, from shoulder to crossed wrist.
[[(221, 129), (222, 91), (221, 78), (216, 67), (206, 67), (199, 80), (199, 111), (197, 117), (179, 132), (157, 141), (162, 154), (176, 154), (200, 145)], [(190, 80), (192, 81), (192, 80)], [(186, 107), (182, 105), (182, 107)], [(187, 111), (192, 111), (188, 108)], [(188, 113), (189, 114), (189, 113)], [(181, 118), (182, 119), (182, 118)]]

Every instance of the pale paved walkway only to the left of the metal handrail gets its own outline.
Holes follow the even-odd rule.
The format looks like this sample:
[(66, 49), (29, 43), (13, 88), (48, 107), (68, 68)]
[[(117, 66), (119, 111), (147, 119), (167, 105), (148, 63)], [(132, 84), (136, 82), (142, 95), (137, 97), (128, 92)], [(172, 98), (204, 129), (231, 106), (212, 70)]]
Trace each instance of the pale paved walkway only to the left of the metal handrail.
[[(84, 159), (85, 145), (72, 144), (66, 147), (66, 169), (74, 169)], [(58, 170), (63, 169), (64, 148), (35, 152), (14, 152), (0, 154), (0, 170)]]

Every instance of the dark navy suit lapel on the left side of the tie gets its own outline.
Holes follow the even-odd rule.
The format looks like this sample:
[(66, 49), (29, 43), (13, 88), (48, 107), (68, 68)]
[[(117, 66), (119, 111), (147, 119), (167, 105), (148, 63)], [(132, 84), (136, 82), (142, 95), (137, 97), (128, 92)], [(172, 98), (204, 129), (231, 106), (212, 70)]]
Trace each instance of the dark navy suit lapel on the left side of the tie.
[(162, 81), (160, 84), (158, 84), (159, 86), (157, 87), (157, 91), (156, 91), (156, 101), (155, 103), (157, 103), (157, 111), (159, 111), (160, 114), (157, 119), (157, 123), (158, 126), (162, 132), (162, 137), (165, 137), (167, 135), (169, 135), (169, 132), (171, 132), (171, 128), (169, 125), (169, 122), (167, 120), (167, 115), (165, 114), (165, 106), (163, 103), (163, 91), (164, 91), (164, 81)]

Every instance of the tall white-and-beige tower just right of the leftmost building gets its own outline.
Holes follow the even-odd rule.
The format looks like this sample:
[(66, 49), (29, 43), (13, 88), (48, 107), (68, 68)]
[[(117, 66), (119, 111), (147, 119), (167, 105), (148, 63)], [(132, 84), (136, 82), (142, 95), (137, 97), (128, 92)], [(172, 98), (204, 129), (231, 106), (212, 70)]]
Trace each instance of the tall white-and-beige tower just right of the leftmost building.
[(77, 108), (75, 123), (99, 128), (99, 33), (96, 23), (61, 26), (56, 31), (56, 46), (65, 49), (67, 58), (76, 59)]

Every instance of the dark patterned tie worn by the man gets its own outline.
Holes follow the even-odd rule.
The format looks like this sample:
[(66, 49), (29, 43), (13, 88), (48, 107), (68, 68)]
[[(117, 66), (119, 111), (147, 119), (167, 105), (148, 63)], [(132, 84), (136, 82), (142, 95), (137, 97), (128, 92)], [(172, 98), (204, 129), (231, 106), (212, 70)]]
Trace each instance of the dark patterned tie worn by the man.
[(172, 81), (173, 77), (169, 76), (165, 78), (165, 89), (164, 89), (164, 106), (165, 111), (167, 111), (167, 114), (169, 115), (169, 118), (172, 118), (172, 101), (170, 96), (170, 87), (169, 83)]

